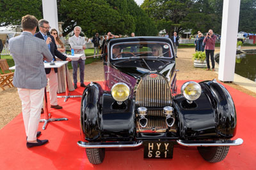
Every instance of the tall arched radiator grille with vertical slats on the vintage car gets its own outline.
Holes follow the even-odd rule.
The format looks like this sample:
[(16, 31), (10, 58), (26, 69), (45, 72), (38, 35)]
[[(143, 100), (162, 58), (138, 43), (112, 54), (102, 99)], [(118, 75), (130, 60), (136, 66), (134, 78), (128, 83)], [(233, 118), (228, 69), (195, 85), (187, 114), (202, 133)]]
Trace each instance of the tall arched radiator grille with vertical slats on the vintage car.
[[(148, 124), (146, 127), (137, 124), (137, 132), (165, 132), (168, 127), (163, 108), (172, 104), (172, 92), (168, 81), (160, 74), (147, 74), (141, 78), (135, 99), (137, 108), (148, 109)], [(138, 115), (137, 118), (139, 119)]]

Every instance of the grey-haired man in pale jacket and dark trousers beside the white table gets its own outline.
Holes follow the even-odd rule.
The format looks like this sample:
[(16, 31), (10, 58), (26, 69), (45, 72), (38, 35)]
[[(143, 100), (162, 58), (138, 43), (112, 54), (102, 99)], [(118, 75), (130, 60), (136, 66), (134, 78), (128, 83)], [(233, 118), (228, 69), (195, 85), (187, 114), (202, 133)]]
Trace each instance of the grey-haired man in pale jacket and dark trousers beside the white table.
[(85, 39), (81, 36), (79, 36), (80, 32), (82, 31), (81, 27), (76, 26), (74, 28), (74, 36), (70, 37), (68, 39), (69, 44), (72, 49), (74, 49), (75, 53), (83, 53), (80, 59), (78, 60), (72, 60), (71, 64), (73, 67), (73, 79), (74, 79), (74, 87), (77, 89), (77, 66), (79, 64), (79, 69), (80, 69), (80, 86), (85, 87), (84, 85), (84, 60), (86, 59), (84, 50), (85, 50)]

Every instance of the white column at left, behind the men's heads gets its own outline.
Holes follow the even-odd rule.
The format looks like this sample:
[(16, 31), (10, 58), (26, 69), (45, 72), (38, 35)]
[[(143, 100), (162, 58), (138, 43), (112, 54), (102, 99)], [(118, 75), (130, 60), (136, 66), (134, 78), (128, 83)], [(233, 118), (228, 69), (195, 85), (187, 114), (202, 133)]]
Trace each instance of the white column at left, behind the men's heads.
[(59, 32), (58, 27), (58, 10), (56, 0), (42, 0), (44, 19)]

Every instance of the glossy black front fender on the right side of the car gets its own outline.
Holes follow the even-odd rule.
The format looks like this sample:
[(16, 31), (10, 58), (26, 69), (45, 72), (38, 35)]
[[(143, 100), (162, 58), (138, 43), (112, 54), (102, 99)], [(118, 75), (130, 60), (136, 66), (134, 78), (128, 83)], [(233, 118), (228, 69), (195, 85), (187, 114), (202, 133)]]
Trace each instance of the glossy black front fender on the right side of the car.
[(236, 134), (236, 109), (232, 97), (216, 81), (202, 81), (201, 96), (189, 104), (180, 94), (174, 97), (180, 138), (232, 138)]

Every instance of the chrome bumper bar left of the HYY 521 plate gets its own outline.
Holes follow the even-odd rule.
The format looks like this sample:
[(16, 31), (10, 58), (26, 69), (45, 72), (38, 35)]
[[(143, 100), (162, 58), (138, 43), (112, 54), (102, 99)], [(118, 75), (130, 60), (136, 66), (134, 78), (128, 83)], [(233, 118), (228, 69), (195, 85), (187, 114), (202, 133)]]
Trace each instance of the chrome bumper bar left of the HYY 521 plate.
[(87, 143), (77, 141), (77, 145), (82, 148), (132, 148), (143, 144), (143, 141), (135, 142), (109, 142), (109, 143)]

